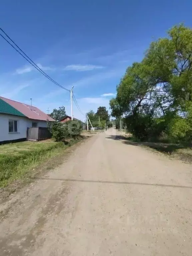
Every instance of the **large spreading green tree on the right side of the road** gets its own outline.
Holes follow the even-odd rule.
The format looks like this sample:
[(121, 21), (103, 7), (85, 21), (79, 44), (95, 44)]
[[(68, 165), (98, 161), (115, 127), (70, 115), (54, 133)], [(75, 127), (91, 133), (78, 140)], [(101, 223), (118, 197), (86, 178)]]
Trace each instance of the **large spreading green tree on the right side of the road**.
[(192, 30), (174, 26), (152, 42), (140, 63), (128, 67), (110, 101), (112, 116), (127, 117), (137, 137), (185, 138), (191, 133)]

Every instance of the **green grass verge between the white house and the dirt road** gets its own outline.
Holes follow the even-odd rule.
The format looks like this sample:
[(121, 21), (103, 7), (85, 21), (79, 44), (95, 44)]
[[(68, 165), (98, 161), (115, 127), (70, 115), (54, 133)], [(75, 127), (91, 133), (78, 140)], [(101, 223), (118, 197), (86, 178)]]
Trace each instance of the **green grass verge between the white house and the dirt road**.
[(78, 140), (63, 142), (45, 140), (0, 145), (0, 187), (31, 175), (33, 168), (51, 157), (62, 153)]

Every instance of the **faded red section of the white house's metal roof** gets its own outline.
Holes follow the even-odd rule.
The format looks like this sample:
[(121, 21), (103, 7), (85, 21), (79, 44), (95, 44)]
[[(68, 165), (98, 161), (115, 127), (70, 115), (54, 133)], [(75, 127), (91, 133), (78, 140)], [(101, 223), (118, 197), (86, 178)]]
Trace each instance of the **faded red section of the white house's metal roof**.
[(43, 120), (43, 121), (47, 121), (48, 119), (49, 121), (55, 121), (52, 117), (48, 116), (47, 114), (42, 112), (40, 109), (34, 106), (32, 106), (32, 110), (31, 110), (30, 105), (27, 105), (18, 101), (14, 101), (14, 100), (9, 100), (3, 97), (0, 97), (0, 99), (4, 100), (9, 105), (11, 105), (15, 109), (23, 113), (26, 117), (30, 119)]

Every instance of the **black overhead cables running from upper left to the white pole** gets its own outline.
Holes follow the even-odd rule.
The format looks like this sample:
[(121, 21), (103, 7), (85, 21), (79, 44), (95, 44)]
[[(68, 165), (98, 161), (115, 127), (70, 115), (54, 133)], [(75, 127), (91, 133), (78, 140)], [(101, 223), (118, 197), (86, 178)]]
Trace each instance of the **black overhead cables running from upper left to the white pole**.
[(14, 45), (12, 45), (1, 33), (0, 36), (3, 37), (3, 39), (10, 44), (24, 59), (26, 59), (34, 68), (36, 68), (42, 75), (44, 75), (46, 78), (48, 78), (51, 82), (53, 82), (54, 84), (58, 85), (59, 87), (61, 87), (62, 89), (66, 90), (66, 91), (70, 91), (67, 88), (63, 87), (62, 85), (58, 84), (55, 80), (53, 80), (50, 76), (48, 76), (40, 67), (38, 67), (37, 64), (35, 64), (35, 62), (33, 62), (32, 59), (30, 59), (27, 54), (25, 54), (21, 48), (4, 32), (4, 30), (2, 28), (0, 28), (0, 30), (11, 40), (11, 42), (14, 43), (14, 45), (30, 60), (28, 60), (20, 51), (18, 51)]

